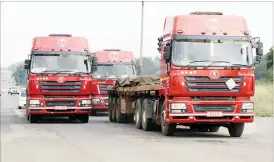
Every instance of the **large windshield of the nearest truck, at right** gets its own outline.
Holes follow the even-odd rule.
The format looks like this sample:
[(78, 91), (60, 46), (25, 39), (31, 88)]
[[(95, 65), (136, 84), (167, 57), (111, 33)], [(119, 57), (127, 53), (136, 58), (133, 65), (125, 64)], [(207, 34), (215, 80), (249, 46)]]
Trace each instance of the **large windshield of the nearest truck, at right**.
[(172, 64), (175, 66), (185, 66), (190, 62), (191, 66), (207, 66), (214, 61), (220, 62), (212, 66), (251, 65), (252, 47), (248, 41), (173, 41)]

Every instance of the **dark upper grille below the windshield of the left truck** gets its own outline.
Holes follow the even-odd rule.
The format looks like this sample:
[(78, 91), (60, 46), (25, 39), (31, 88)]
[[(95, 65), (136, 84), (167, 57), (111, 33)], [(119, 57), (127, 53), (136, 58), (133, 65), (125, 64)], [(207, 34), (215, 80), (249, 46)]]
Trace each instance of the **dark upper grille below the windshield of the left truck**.
[(41, 92), (80, 92), (82, 82), (67, 81), (58, 83), (56, 81), (40, 81)]

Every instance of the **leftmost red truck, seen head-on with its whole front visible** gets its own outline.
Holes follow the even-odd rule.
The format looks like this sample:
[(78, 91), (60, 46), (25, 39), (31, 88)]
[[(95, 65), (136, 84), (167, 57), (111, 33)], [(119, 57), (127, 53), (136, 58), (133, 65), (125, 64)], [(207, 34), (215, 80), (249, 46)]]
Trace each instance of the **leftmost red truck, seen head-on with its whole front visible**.
[(69, 34), (35, 37), (25, 60), (29, 122), (45, 116), (68, 116), (88, 123), (94, 58), (85, 38)]

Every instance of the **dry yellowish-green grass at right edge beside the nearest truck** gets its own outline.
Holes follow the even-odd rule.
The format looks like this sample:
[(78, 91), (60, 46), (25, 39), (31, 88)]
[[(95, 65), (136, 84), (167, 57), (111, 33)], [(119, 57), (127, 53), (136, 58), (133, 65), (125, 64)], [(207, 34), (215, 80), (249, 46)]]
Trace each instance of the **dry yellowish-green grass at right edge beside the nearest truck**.
[(273, 83), (256, 81), (255, 88), (255, 114), (261, 117), (273, 115)]

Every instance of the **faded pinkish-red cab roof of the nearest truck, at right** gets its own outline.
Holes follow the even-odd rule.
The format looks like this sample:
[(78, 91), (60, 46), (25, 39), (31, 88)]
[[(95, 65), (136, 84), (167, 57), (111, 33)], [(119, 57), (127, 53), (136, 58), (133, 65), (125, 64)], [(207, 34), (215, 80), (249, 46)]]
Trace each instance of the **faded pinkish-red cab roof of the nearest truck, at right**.
[(190, 14), (166, 17), (164, 36), (175, 34), (250, 37), (246, 20), (243, 17), (222, 14)]

